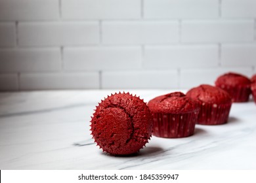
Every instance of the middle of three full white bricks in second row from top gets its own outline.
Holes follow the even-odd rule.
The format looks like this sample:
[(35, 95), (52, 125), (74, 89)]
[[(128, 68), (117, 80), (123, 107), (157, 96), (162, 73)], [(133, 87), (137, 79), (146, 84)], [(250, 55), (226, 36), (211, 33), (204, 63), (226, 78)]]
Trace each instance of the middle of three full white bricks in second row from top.
[(179, 42), (178, 21), (104, 22), (103, 44), (167, 44)]

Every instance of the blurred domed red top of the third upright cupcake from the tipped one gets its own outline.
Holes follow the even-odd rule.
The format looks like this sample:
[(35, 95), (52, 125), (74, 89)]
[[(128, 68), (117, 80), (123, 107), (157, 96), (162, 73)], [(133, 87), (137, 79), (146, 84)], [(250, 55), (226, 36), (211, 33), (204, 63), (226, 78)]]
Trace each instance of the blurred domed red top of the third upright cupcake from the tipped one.
[(228, 85), (228, 86), (249, 86), (251, 81), (244, 75), (237, 73), (226, 73), (219, 76), (215, 81), (217, 86)]

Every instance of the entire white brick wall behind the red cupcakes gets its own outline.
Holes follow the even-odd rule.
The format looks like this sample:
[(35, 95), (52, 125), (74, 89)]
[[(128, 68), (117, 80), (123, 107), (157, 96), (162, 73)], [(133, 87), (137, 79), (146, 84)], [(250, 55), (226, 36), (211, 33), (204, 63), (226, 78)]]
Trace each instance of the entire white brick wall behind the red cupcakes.
[(255, 0), (0, 0), (0, 90), (190, 88), (256, 73)]

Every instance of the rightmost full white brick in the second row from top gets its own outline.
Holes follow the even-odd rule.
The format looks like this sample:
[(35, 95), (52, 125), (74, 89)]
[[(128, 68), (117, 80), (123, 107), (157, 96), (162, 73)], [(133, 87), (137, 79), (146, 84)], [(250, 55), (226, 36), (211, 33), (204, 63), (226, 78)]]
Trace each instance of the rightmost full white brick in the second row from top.
[(182, 42), (252, 42), (253, 20), (184, 20)]

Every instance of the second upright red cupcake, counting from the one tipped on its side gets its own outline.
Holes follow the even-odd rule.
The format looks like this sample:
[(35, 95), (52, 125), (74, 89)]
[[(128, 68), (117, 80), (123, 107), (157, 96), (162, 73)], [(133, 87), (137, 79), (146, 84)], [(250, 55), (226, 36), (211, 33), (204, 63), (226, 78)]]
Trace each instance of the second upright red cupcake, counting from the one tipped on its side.
[(190, 89), (186, 96), (200, 103), (198, 124), (219, 125), (228, 121), (232, 99), (221, 88), (202, 84)]

